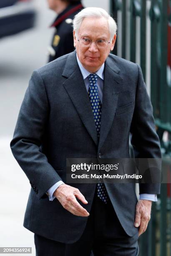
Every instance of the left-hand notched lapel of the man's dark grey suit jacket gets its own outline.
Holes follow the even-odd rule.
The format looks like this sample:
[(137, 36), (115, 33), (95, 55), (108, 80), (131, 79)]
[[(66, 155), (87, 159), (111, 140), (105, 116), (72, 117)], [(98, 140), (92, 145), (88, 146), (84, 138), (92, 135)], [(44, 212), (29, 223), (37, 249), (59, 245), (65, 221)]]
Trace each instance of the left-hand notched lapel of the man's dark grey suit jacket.
[(98, 145), (98, 137), (91, 103), (85, 88), (83, 76), (77, 63), (75, 51), (68, 55), (62, 75), (68, 78), (63, 83), (65, 90), (68, 92), (68, 95), (88, 133), (93, 138), (96, 145)]

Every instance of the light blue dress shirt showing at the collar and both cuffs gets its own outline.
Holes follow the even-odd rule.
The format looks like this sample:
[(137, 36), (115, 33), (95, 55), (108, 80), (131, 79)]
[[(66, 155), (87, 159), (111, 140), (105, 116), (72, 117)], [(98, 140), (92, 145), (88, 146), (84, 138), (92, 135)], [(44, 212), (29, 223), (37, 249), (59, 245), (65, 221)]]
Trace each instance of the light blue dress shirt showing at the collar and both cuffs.
[[(80, 71), (83, 75), (83, 79), (84, 79), (84, 82), (85, 82), (85, 87), (87, 89), (87, 92), (88, 92), (88, 89), (89, 89), (89, 78), (88, 76), (91, 74), (90, 72), (88, 72), (84, 67), (83, 65), (80, 63), (80, 60), (78, 59), (78, 56), (77, 56), (77, 61), (78, 61), (78, 66), (80, 68)], [(101, 66), (101, 68), (96, 72), (96, 74), (98, 75), (98, 80), (97, 80), (97, 88), (98, 88), (98, 97), (99, 99), (101, 100), (101, 103), (103, 101), (103, 81), (104, 81), (104, 67), (105, 67), (105, 64), (103, 63), (103, 65)], [(50, 187), (50, 189), (48, 189), (48, 194), (49, 194), (49, 200), (50, 201), (53, 201), (53, 199), (55, 199), (55, 196), (53, 196), (53, 193), (55, 192), (55, 190), (61, 185), (61, 184), (64, 184), (63, 181), (59, 181), (59, 182), (56, 182), (52, 187)], [(151, 200), (151, 201), (154, 201), (156, 202), (157, 201), (157, 195), (153, 195), (153, 194), (141, 194), (140, 195), (140, 198), (139, 199), (142, 199), (142, 200)]]

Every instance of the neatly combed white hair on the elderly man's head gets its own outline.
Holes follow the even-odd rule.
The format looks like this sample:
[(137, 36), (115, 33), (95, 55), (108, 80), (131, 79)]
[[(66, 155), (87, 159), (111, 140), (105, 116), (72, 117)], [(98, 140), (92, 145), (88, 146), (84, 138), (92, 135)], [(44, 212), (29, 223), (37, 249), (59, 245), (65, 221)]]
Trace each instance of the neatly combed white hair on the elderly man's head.
[(116, 21), (106, 12), (106, 10), (98, 7), (85, 8), (75, 15), (73, 20), (73, 30), (75, 30), (77, 34), (83, 19), (86, 17), (106, 18), (111, 38), (113, 38), (117, 31)]

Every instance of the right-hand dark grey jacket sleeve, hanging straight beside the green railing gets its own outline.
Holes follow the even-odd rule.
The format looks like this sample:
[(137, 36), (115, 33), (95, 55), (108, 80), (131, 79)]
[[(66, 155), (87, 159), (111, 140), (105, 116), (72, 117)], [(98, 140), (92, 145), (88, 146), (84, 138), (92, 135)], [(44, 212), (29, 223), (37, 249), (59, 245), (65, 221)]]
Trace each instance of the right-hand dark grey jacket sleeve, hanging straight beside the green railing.
[[(139, 161), (137, 161), (139, 164), (139, 166), (137, 166), (138, 169), (142, 168), (143, 163), (146, 166), (146, 170), (151, 172), (153, 178), (157, 181), (160, 181), (160, 141), (155, 129), (151, 100), (148, 96), (146, 85), (143, 80), (143, 74), (139, 66), (135, 109), (130, 132), (134, 157), (139, 159)], [(144, 161), (141, 161), (141, 159), (144, 159)], [(154, 164), (156, 168), (150, 167), (150, 159), (153, 159), (153, 161), (151, 161), (151, 166)], [(147, 179), (148, 177), (149, 176), (147, 175)], [(139, 190), (140, 194), (159, 194), (160, 184), (157, 182), (152, 183), (150, 180), (148, 180), (147, 183), (139, 184)]]

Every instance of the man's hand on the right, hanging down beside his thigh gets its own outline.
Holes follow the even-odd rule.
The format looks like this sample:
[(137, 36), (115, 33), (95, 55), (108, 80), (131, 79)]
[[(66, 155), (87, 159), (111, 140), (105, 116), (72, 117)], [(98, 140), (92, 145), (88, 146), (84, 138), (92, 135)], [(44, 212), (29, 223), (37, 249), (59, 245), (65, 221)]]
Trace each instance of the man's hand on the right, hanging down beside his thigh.
[(151, 215), (151, 204), (150, 200), (139, 200), (136, 205), (136, 218), (134, 226), (139, 227), (138, 236), (146, 231), (148, 222)]

